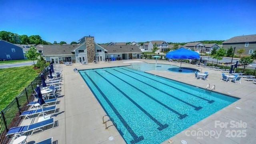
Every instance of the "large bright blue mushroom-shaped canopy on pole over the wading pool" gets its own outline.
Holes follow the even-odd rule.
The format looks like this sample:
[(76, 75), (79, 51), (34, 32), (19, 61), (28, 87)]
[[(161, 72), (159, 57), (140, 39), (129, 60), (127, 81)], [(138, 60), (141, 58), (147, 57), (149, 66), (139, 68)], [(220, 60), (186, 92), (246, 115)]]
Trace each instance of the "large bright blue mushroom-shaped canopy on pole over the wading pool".
[[(199, 59), (200, 56), (197, 52), (194, 52), (192, 50), (188, 50), (186, 48), (179, 48), (178, 50), (174, 50), (171, 52), (168, 52), (166, 54), (166, 58), (172, 58), (172, 59)], [(180, 71), (181, 71), (181, 62), (180, 62)]]

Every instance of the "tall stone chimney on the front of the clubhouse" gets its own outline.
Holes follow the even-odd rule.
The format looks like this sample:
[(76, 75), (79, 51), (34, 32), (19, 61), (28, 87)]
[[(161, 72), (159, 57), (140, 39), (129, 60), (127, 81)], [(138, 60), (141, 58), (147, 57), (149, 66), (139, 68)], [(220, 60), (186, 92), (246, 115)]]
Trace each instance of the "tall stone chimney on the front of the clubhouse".
[(85, 42), (86, 42), (88, 62), (92, 62), (92, 61), (94, 61), (94, 56), (95, 56), (94, 37), (90, 36), (90, 35), (86, 36)]

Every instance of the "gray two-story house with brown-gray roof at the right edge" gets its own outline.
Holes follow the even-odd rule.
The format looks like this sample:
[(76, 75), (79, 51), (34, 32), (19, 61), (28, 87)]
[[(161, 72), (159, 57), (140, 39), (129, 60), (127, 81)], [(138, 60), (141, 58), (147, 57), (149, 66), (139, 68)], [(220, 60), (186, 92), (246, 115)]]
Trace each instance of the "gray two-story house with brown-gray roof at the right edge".
[(251, 55), (256, 50), (256, 34), (246, 36), (235, 36), (222, 42), (222, 47), (228, 49), (236, 47), (234, 54), (238, 54), (237, 50), (244, 48), (246, 55)]

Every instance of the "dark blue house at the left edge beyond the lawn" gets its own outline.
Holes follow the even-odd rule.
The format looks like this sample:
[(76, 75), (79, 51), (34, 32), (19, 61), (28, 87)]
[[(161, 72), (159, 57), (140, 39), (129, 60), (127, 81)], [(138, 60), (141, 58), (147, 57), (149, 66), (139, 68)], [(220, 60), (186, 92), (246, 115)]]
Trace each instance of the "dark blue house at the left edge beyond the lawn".
[(0, 50), (1, 50), (0, 60), (24, 60), (25, 59), (22, 48), (10, 42), (0, 40)]

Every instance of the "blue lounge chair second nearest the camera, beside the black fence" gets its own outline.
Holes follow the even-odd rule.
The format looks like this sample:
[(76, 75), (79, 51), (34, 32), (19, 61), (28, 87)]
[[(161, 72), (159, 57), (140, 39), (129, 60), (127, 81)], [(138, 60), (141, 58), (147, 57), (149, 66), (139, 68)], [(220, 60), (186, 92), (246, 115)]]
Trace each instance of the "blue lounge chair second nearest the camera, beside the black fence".
[[(12, 127), (7, 132), (6, 136), (11, 135), (11, 134), (16, 134), (16, 135), (22, 136), (24, 133), (30, 132), (30, 131), (32, 131), (31, 134), (30, 134), (30, 135), (32, 135), (33, 132), (38, 131), (38, 130), (42, 130), (42, 128), (44, 126), (48, 126), (50, 124), (53, 124), (52, 125), (52, 128), (53, 128), (54, 127), (54, 118), (50, 118), (48, 120), (44, 120), (42, 122), (37, 122), (37, 123), (30, 124), (30, 125), (27, 125), (27, 126)], [(44, 131), (44, 130), (42, 130), (42, 131)]]

